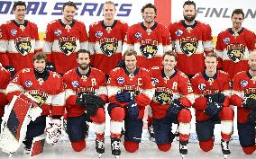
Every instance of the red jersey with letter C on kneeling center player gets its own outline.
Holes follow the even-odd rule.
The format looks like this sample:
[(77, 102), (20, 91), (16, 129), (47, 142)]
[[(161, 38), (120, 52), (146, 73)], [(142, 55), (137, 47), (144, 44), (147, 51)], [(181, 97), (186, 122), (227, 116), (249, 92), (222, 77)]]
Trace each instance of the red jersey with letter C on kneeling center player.
[(151, 73), (149, 70), (137, 67), (133, 74), (121, 67), (114, 68), (110, 72), (107, 82), (108, 100), (124, 107), (126, 102), (117, 102), (115, 95), (119, 92), (131, 92), (135, 95), (135, 102), (139, 107), (139, 118), (144, 115), (145, 106), (151, 103), (154, 88), (151, 83)]

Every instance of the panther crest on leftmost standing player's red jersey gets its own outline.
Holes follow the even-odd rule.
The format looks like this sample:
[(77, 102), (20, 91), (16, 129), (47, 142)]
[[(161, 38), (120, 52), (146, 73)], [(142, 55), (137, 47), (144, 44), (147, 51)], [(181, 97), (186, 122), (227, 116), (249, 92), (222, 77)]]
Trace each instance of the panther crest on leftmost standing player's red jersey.
[(20, 54), (26, 56), (32, 49), (31, 40), (30, 37), (17, 37), (14, 40), (15, 48)]

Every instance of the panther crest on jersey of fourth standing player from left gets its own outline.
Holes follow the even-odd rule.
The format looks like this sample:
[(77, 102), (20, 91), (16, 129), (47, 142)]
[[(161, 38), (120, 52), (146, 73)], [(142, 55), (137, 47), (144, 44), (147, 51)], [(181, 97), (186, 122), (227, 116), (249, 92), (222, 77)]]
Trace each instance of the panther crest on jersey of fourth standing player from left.
[(159, 42), (156, 40), (142, 40), (140, 50), (142, 56), (151, 59), (158, 52)]

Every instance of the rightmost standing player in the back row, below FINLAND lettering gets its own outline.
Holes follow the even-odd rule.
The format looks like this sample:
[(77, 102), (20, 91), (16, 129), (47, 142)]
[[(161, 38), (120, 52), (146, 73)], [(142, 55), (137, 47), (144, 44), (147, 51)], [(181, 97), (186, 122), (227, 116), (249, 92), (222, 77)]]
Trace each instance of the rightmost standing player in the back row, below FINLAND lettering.
[(244, 13), (242, 9), (233, 10), (232, 28), (218, 34), (216, 54), (221, 57), (222, 67), (231, 77), (238, 72), (249, 69), (248, 58), (255, 49), (256, 36), (253, 32), (242, 27)]

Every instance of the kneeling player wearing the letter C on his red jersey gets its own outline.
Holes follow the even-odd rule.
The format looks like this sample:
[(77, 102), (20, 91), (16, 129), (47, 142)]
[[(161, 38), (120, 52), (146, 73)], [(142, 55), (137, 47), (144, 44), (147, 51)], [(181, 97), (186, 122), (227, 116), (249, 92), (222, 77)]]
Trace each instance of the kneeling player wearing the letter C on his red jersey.
[(145, 106), (151, 103), (154, 91), (150, 71), (136, 66), (137, 52), (128, 49), (124, 52), (123, 59), (125, 66), (114, 68), (107, 84), (111, 147), (112, 154), (117, 158), (121, 155), (123, 119), (125, 150), (133, 153), (139, 149)]

